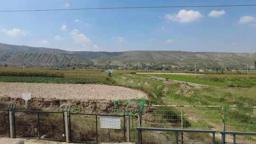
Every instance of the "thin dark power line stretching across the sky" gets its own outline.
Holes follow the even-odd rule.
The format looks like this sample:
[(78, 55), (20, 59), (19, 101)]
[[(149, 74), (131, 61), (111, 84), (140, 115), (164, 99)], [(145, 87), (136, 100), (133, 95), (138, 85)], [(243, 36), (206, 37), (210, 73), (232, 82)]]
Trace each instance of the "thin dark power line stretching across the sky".
[(62, 10), (93, 10), (93, 9), (150, 9), (150, 8), (201, 8), (201, 7), (254, 7), (249, 5), (201, 5), (201, 6), (141, 6), (141, 7), (110, 7), (110, 8), (81, 8), (81, 9), (20, 9), (0, 10), (0, 12), (26, 12), (26, 11), (62, 11)]

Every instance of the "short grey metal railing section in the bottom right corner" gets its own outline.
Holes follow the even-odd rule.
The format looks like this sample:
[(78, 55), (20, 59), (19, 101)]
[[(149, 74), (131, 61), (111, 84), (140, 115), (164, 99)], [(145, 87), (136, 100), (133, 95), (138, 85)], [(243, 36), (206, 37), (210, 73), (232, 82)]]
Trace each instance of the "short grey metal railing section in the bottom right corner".
[(256, 144), (256, 141), (253, 141), (255, 137), (251, 137), (256, 136), (256, 133), (221, 131), (220, 134), (222, 144)]

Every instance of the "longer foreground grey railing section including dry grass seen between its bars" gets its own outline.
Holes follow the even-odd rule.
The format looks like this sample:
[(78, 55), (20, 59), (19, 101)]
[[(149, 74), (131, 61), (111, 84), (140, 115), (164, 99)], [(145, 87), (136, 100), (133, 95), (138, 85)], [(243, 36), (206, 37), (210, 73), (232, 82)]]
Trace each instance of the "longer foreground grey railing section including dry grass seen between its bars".
[(218, 144), (215, 141), (215, 131), (148, 127), (137, 129), (138, 144)]

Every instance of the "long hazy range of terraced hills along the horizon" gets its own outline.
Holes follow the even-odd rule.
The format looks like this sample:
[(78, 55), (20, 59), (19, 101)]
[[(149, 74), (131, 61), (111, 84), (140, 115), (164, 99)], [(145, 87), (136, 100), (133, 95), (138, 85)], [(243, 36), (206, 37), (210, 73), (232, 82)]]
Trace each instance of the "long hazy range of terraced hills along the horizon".
[(8, 45), (0, 43), (0, 63), (11, 65), (67, 65), (93, 63), (93, 65), (140, 65), (159, 64), (172, 67), (191, 67), (198, 64), (203, 68), (226, 66), (254, 67), (256, 53), (219, 53), (183, 51), (126, 51), (89, 52), (64, 51), (61, 49)]

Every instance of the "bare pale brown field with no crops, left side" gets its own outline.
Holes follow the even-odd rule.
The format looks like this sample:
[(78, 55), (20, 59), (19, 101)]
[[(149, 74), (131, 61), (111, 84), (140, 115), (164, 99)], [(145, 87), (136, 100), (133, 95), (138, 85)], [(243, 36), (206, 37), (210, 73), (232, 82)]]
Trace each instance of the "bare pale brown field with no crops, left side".
[(0, 82), (0, 97), (22, 98), (31, 93), (31, 98), (56, 99), (141, 99), (146, 93), (119, 86), (100, 84), (51, 84)]

